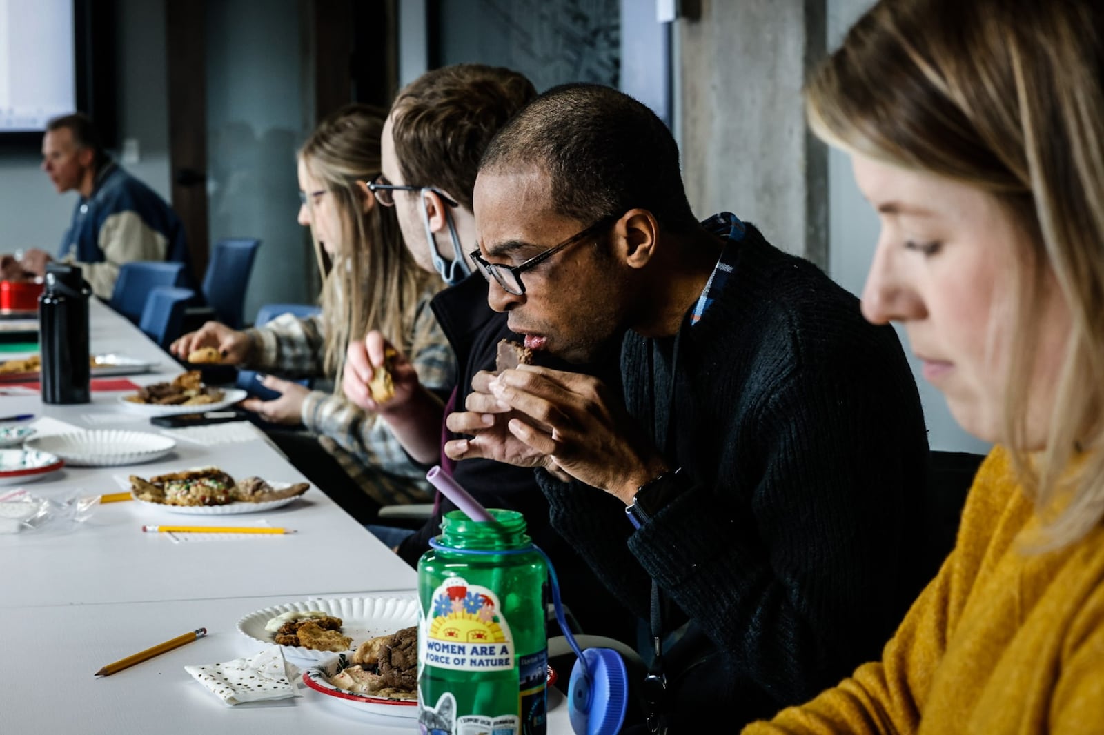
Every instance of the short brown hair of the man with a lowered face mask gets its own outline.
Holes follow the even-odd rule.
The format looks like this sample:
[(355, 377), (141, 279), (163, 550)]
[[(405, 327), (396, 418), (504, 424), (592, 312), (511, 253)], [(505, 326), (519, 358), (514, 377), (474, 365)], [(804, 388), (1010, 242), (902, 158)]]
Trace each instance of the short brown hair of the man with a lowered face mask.
[(438, 187), (471, 211), (484, 150), (535, 96), (524, 75), (486, 64), (444, 66), (411, 82), (391, 106), (404, 183)]

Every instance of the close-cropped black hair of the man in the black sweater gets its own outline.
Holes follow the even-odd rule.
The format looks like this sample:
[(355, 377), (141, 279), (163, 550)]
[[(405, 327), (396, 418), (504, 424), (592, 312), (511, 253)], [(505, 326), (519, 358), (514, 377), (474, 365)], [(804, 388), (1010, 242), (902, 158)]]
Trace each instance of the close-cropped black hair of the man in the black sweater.
[(480, 170), (507, 167), (548, 171), (556, 214), (585, 224), (634, 207), (672, 232), (698, 223), (671, 131), (612, 87), (564, 84), (533, 100), (499, 131), (480, 163)]

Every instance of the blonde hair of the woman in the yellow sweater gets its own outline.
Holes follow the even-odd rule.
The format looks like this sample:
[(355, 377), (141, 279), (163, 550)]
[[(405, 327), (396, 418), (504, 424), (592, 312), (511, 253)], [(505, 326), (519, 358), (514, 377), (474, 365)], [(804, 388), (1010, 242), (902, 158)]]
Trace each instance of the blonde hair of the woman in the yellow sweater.
[[(1004, 430), (1045, 521), (1039, 550), (1104, 519), (1102, 85), (1100, 0), (882, 0), (805, 90), (829, 143), (987, 191), (1025, 234)], [(1030, 324), (1050, 273), (1072, 326), (1045, 448), (1029, 457)]]

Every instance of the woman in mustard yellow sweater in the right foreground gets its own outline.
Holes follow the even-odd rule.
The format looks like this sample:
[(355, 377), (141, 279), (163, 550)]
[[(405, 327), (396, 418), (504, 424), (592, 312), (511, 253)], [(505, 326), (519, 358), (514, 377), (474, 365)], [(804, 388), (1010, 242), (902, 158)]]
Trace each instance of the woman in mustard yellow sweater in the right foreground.
[(806, 90), (862, 297), (997, 443), (882, 660), (765, 733), (1104, 733), (1104, 2), (882, 0)]

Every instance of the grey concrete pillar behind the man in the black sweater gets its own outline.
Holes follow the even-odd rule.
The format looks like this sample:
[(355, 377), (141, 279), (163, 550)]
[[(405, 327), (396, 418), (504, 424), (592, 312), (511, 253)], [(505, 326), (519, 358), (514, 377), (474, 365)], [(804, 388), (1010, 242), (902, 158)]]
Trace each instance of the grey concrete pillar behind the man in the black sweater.
[(682, 174), (694, 212), (731, 211), (828, 265), (828, 158), (802, 85), (824, 57), (825, 0), (700, 0), (676, 33)]

